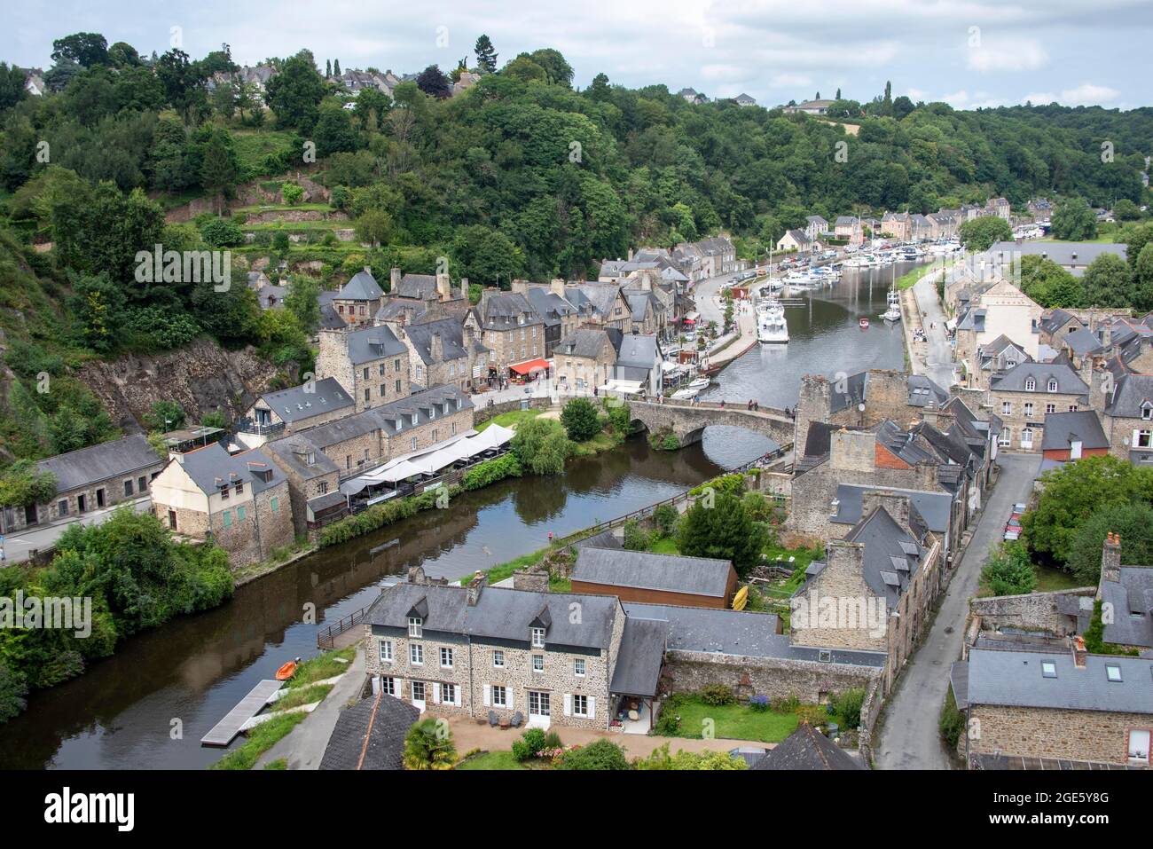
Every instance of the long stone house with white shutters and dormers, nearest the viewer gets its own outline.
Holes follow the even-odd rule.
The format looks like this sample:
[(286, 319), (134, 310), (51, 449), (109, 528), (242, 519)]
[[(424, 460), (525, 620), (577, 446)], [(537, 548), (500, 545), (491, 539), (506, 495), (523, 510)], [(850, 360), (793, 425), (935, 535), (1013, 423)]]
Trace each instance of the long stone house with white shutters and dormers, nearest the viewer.
[(422, 713), (609, 727), (625, 630), (617, 599), (488, 587), (483, 576), (462, 587), (414, 572), (364, 617), (375, 689)]

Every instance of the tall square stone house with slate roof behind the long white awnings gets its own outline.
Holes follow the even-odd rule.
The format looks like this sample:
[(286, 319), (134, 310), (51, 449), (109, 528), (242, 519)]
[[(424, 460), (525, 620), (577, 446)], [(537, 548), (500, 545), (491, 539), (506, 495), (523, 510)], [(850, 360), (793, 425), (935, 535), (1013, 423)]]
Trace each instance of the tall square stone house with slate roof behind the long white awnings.
[(356, 412), (407, 398), (408, 346), (387, 326), (322, 330), (316, 378), (333, 377), (356, 401)]

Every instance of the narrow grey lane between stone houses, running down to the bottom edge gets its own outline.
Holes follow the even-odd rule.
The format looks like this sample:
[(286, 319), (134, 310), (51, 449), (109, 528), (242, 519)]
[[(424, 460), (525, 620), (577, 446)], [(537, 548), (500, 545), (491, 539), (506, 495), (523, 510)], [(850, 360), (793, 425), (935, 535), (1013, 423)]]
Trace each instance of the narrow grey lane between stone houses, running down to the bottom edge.
[(897, 683), (884, 714), (875, 751), (881, 769), (951, 769), (937, 731), (937, 717), (949, 688), (949, 667), (960, 660), (969, 600), (977, 594), (989, 549), (1001, 540), (1017, 502), (1028, 501), (1039, 454), (1002, 453), (1001, 473), (977, 520), (973, 538), (960, 556), (957, 573), (941, 602), (933, 628)]

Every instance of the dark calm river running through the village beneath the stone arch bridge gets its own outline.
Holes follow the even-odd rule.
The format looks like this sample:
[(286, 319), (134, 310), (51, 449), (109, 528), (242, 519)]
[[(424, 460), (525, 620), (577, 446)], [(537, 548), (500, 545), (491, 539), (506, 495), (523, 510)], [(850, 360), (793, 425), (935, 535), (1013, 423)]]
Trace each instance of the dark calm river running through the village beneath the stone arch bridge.
[[(784, 407), (796, 404), (804, 374), (900, 368), (900, 328), (877, 318), (891, 275), (846, 272), (801, 295), (801, 306), (786, 308), (790, 343), (754, 347), (702, 397)], [(857, 325), (861, 315), (868, 330)], [(0, 726), (0, 767), (204, 768), (221, 752), (199, 738), (286, 660), (316, 654), (317, 630), (371, 602), (382, 577), (420, 564), (431, 576), (460, 578), (543, 548), (550, 531), (564, 535), (671, 497), (770, 445), (719, 427), (677, 452), (632, 437), (574, 460), (562, 476), (504, 481), (449, 510), (310, 555), (240, 587), (223, 607), (133, 637), (80, 678), (33, 693), (24, 714)], [(315, 604), (317, 624), (303, 621), (307, 604)]]

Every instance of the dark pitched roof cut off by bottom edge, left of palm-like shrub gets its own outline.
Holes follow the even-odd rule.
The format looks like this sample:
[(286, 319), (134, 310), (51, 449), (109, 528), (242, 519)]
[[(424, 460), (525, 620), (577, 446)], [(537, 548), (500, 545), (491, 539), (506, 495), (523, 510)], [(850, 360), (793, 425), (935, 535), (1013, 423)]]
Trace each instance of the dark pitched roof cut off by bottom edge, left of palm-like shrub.
[(420, 708), (384, 693), (361, 699), (337, 716), (319, 768), (404, 769), (405, 735), (420, 715)]

